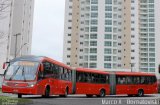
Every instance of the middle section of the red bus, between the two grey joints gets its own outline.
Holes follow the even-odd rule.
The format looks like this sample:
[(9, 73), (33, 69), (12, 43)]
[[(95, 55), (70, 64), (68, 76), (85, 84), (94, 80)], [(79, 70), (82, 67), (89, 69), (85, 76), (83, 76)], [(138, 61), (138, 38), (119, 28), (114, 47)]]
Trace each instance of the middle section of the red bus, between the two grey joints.
[(75, 76), (76, 94), (86, 94), (87, 97), (104, 97), (110, 94), (109, 72), (77, 68)]

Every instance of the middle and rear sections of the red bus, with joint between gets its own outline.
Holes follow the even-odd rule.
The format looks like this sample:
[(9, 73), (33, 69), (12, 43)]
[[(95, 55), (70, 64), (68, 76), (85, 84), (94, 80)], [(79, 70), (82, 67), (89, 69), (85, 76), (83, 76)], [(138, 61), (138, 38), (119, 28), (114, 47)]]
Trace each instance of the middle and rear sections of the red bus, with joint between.
[(104, 72), (91, 69), (76, 69), (76, 94), (104, 97), (127, 94), (144, 96), (158, 93), (155, 74), (140, 72)]

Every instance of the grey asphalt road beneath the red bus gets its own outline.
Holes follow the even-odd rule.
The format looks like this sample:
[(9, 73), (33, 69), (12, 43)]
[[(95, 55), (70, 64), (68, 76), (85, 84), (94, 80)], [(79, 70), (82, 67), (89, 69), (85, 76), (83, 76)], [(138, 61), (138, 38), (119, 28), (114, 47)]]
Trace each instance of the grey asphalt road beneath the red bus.
[(51, 96), (23, 96), (24, 99), (33, 100), (31, 105), (160, 105), (159, 95), (145, 95), (144, 97), (106, 96), (104, 98), (87, 98), (84, 95), (70, 95), (67, 98)]

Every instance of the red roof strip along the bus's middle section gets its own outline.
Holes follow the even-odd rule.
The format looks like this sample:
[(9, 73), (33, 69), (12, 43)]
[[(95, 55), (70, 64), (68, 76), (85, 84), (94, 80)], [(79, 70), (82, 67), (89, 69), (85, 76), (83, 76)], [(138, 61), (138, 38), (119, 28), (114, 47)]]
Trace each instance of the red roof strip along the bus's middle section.
[(105, 71), (102, 71), (102, 70), (94, 70), (94, 69), (89, 69), (89, 68), (76, 68), (76, 71), (98, 73), (98, 74), (109, 74), (109, 72), (105, 72)]

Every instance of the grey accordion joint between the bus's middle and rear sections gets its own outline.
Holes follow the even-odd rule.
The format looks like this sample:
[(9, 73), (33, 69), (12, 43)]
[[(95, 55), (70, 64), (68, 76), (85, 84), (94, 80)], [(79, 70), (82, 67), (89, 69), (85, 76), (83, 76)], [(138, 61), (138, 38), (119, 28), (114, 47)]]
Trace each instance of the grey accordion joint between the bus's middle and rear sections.
[(110, 95), (116, 94), (116, 75), (114, 72), (109, 74)]

